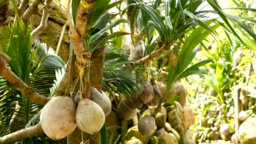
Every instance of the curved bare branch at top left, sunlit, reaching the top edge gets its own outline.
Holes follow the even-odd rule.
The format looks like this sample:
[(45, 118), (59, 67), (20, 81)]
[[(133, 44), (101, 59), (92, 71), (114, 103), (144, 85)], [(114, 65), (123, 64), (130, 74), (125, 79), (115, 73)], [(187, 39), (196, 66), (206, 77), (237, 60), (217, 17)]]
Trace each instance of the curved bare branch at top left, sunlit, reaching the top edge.
[(32, 37), (37, 37), (38, 35), (40, 35), (41, 33), (44, 32), (44, 29), (47, 27), (47, 20), (49, 17), (49, 12), (50, 12), (50, 4), (51, 2), (53, 2), (53, 0), (46, 0), (45, 3), (46, 5), (44, 5), (43, 7), (43, 15), (42, 15), (42, 19), (40, 22), (40, 25), (33, 30), (33, 32), (31, 33)]

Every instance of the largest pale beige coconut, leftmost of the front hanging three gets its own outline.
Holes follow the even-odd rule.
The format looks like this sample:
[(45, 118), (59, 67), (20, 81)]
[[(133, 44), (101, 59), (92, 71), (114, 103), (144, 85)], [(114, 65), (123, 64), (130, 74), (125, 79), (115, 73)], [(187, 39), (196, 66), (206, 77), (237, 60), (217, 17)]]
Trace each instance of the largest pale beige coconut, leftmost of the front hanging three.
[(75, 110), (77, 106), (70, 97), (54, 97), (40, 113), (40, 123), (44, 133), (53, 140), (70, 135), (77, 127)]

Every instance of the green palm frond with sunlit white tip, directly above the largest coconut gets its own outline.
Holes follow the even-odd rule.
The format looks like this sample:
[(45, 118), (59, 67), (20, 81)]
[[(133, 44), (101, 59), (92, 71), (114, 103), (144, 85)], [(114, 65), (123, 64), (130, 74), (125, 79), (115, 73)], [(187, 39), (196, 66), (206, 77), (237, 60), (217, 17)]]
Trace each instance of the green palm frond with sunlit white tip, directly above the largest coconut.
[(55, 71), (62, 69), (65, 62), (54, 54), (54, 51), (45, 43), (40, 43), (39, 41), (34, 41), (33, 50), (34, 61), (32, 63), (32, 76), (31, 82), (32, 87), (36, 89), (41, 95), (50, 95), (50, 88), (53, 87), (55, 80)]

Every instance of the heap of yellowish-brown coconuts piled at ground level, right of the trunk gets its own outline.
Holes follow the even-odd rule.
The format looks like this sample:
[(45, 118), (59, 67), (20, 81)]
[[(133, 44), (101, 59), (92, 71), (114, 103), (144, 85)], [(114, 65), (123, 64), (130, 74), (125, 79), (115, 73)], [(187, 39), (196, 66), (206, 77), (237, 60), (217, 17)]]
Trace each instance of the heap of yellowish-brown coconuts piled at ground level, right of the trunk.
[(174, 103), (162, 106), (156, 115), (151, 114), (156, 106), (148, 107), (142, 112), (138, 125), (127, 131), (123, 141), (129, 141), (132, 135), (143, 143), (194, 144), (189, 130), (195, 121), (194, 113), (189, 107), (182, 107), (177, 101)]

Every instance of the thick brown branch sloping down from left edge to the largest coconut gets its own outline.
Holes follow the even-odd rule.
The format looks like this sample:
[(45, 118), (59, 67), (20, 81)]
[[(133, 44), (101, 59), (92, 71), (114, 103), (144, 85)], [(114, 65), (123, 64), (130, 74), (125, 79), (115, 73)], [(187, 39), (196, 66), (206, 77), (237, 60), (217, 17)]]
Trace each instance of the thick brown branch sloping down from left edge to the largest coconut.
[(3, 78), (8, 82), (10, 82), (12, 85), (19, 88), (20, 91), (24, 93), (28, 99), (32, 100), (36, 104), (45, 105), (50, 100), (50, 98), (44, 97), (38, 94), (37, 92), (34, 91), (34, 89), (26, 85), (26, 83), (24, 83), (18, 76), (16, 76), (13, 73), (13, 71), (8, 69), (7, 65), (1, 58), (0, 58), (0, 75), (2, 75)]

